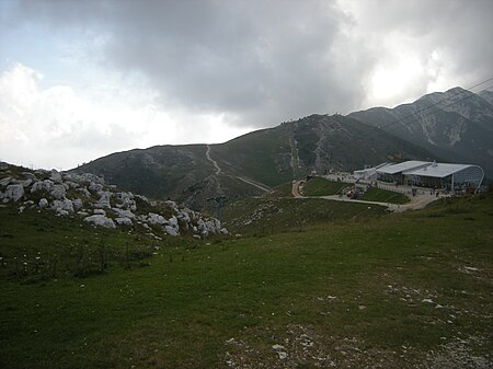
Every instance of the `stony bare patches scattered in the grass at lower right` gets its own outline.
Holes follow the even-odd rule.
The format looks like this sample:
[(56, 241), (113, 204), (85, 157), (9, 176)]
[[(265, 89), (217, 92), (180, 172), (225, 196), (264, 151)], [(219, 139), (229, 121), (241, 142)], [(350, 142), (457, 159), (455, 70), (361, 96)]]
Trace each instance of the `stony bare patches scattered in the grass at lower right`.
[[(467, 274), (481, 276), (477, 267), (461, 267)], [(389, 277), (387, 275), (387, 277)], [(484, 276), (483, 276), (484, 277)], [(437, 291), (403, 285), (395, 279), (392, 285), (381, 285), (380, 296), (394, 304), (394, 309), (411, 311), (409, 319), (426, 330), (440, 328), (442, 344), (424, 349), (411, 344), (378, 347), (358, 336), (336, 334), (328, 325), (294, 324), (266, 325), (263, 328), (245, 327), (238, 336), (225, 342), (225, 364), (229, 368), (420, 368), (420, 369), (486, 369), (493, 368), (492, 342), (488, 333), (492, 315), (489, 297), (475, 293), (484, 304), (468, 304), (467, 290)], [(488, 278), (489, 279), (489, 278)], [(387, 279), (389, 281), (389, 279)], [(356, 295), (360, 298), (362, 291)], [(461, 296), (465, 303), (451, 304), (450, 293)], [(483, 296), (484, 295), (484, 296)], [(352, 299), (353, 297), (351, 297)], [(337, 303), (346, 303), (348, 297), (320, 296), (312, 298), (312, 310), (330, 315)], [(392, 302), (394, 301), (394, 302)], [(395, 302), (398, 301), (398, 302)], [(367, 307), (356, 305), (363, 314)], [(419, 312), (421, 309), (421, 313)], [(429, 313), (423, 314), (423, 309)], [(415, 313), (412, 313), (415, 311)], [(289, 312), (287, 312), (289, 313)], [(471, 334), (471, 326), (480, 324)], [(362, 330), (364, 331), (364, 330)], [(354, 332), (354, 330), (353, 330)], [(426, 331), (425, 331), (426, 332)]]

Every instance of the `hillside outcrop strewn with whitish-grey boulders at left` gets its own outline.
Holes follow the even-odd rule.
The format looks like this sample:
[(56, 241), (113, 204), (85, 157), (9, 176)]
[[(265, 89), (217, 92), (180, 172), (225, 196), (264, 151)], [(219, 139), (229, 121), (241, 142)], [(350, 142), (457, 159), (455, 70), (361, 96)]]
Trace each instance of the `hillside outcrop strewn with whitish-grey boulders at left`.
[(171, 200), (154, 201), (118, 191), (89, 173), (30, 171), (0, 162), (0, 203), (14, 203), (19, 212), (26, 209), (54, 211), (60, 217), (79, 217), (84, 222), (105, 228), (136, 228), (154, 239), (228, 233), (218, 219), (180, 207)]

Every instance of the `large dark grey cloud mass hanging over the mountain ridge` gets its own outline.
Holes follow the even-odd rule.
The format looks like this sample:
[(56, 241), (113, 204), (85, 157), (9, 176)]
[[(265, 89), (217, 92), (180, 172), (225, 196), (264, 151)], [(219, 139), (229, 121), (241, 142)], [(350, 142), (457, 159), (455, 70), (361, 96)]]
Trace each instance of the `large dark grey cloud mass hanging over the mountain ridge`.
[(446, 68), (467, 76), (459, 81), (491, 77), (492, 1), (349, 3), (37, 0), (21, 2), (21, 13), (106, 35), (98, 57), (145, 76), (164, 106), (227, 113), (239, 125), (362, 107), (375, 67), (393, 53), (383, 43), (391, 33), (412, 39), (424, 62), (442, 50)]

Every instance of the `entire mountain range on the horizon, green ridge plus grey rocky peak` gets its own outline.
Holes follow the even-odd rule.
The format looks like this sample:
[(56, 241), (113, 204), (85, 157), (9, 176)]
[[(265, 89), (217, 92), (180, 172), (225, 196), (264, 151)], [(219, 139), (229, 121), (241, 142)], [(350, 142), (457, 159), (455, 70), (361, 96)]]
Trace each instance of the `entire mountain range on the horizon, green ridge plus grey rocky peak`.
[(217, 196), (257, 196), (312, 170), (353, 171), (409, 159), (480, 164), (493, 177), (493, 93), (455, 88), (394, 108), (310, 115), (225, 143), (117, 152), (72, 171), (127, 191), (213, 209)]

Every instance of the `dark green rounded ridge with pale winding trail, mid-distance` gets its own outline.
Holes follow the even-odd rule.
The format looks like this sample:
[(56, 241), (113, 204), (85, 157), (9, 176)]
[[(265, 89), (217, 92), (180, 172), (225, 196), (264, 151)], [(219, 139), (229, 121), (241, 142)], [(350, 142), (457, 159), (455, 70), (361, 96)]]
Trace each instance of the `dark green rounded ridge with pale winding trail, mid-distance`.
[(114, 153), (74, 173), (104, 176), (122, 188), (214, 210), (218, 195), (230, 200), (261, 195), (312, 170), (355, 170), (392, 159), (431, 153), (342, 115), (311, 115), (253, 131), (220, 145), (160, 146)]

